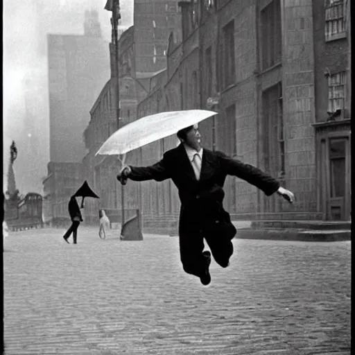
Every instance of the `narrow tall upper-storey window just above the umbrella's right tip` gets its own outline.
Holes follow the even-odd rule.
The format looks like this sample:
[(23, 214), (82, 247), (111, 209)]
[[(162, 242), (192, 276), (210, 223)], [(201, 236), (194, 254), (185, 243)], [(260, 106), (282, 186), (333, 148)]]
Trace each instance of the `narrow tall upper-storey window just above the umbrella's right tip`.
[(223, 28), (224, 34), (224, 81), (225, 87), (235, 82), (235, 60), (234, 60), (234, 20), (230, 21)]

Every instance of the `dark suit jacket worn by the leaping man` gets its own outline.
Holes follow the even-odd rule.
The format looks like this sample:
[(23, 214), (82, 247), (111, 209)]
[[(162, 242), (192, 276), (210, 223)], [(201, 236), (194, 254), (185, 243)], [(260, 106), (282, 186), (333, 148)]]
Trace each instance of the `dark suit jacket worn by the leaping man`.
[(236, 230), (230, 215), (223, 209), (223, 184), (227, 175), (234, 175), (261, 189), (267, 196), (279, 189), (279, 182), (259, 168), (227, 157), (221, 152), (203, 150), (200, 180), (182, 144), (164, 153), (163, 159), (152, 166), (130, 166), (131, 180), (163, 181), (171, 178), (178, 187), (181, 201), (180, 236), (196, 230), (211, 230), (231, 236)]

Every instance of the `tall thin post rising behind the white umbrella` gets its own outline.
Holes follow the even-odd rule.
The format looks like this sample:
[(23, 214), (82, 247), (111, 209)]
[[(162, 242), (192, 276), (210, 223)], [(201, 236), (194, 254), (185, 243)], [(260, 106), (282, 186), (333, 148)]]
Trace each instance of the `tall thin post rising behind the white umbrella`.
[[(120, 128), (120, 100), (119, 100), (119, 31), (118, 24), (121, 19), (119, 8), (119, 0), (107, 0), (105, 10), (112, 12), (111, 26), (112, 26), (112, 42), (114, 44), (114, 59), (116, 62), (116, 127)], [(122, 227), (125, 223), (124, 211), (124, 187), (121, 185), (121, 211), (122, 211)]]

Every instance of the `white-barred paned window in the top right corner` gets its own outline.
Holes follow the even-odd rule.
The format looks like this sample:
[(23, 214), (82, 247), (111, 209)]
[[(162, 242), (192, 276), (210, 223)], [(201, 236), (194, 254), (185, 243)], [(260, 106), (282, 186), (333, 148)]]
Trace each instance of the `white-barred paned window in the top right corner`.
[(325, 40), (337, 40), (346, 36), (345, 4), (343, 0), (325, 1)]

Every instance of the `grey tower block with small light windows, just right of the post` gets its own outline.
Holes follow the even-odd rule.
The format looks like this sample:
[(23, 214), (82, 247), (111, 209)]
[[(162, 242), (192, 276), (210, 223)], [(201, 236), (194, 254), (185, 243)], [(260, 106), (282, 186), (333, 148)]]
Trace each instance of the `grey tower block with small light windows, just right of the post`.
[(181, 17), (176, 0), (135, 0), (135, 55), (139, 73), (166, 68), (166, 48), (172, 31), (181, 37)]

